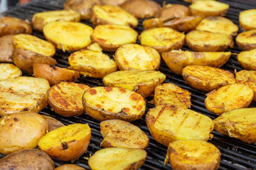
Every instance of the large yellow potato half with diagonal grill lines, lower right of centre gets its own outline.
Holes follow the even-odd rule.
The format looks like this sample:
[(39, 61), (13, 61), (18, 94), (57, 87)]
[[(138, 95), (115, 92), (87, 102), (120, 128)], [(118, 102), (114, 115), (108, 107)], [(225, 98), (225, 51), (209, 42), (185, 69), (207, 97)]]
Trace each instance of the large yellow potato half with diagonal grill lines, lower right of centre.
[(168, 146), (176, 140), (208, 140), (213, 120), (187, 108), (159, 105), (146, 113), (146, 125), (154, 140)]

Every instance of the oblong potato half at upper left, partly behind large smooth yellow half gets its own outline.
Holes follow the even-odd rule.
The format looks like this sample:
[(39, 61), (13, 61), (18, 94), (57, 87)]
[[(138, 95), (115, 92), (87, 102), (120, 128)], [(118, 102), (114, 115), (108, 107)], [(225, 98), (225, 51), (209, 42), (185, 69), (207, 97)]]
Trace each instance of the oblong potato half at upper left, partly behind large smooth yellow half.
[(43, 26), (52, 21), (80, 21), (80, 13), (73, 10), (43, 11), (35, 13), (32, 18), (32, 26), (35, 30), (43, 32)]

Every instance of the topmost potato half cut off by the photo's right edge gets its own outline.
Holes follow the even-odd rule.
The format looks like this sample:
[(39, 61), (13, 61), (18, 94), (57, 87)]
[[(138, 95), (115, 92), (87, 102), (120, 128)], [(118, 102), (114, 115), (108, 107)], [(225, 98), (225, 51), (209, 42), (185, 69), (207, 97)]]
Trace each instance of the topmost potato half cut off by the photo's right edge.
[(245, 30), (256, 29), (256, 8), (240, 12), (239, 24)]

